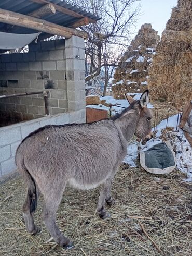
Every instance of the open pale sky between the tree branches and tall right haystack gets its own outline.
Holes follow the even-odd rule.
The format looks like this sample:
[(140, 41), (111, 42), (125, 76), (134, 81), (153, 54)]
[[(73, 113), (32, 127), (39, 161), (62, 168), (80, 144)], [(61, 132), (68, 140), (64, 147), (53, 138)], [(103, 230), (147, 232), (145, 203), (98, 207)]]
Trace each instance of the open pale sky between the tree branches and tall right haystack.
[[(141, 25), (151, 23), (152, 28), (158, 31), (161, 36), (162, 31), (166, 27), (168, 19), (171, 17), (172, 7), (177, 5), (177, 0), (141, 0), (141, 15), (138, 18), (134, 32), (138, 33)], [(132, 38), (134, 38), (133, 34)]]

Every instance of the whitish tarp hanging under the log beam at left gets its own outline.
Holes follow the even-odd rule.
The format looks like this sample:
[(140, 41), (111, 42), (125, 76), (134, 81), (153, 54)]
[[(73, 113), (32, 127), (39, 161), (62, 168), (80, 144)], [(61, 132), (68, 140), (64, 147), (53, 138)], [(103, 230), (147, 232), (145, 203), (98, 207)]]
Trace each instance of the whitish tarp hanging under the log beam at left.
[(22, 48), (25, 45), (31, 43), (38, 33), (34, 34), (12, 34), (0, 32), (0, 49), (16, 49)]

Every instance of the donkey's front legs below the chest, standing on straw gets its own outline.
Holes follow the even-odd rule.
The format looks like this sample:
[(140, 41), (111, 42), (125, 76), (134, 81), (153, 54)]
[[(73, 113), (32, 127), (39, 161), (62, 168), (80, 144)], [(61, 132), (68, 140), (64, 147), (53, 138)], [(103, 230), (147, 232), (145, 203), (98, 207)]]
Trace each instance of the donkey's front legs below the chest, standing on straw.
[(115, 201), (111, 197), (111, 184), (112, 184), (112, 178), (107, 179), (102, 186), (100, 197), (98, 201), (97, 211), (101, 218), (108, 218), (110, 215), (105, 210), (105, 200), (109, 204), (113, 204), (112, 202)]

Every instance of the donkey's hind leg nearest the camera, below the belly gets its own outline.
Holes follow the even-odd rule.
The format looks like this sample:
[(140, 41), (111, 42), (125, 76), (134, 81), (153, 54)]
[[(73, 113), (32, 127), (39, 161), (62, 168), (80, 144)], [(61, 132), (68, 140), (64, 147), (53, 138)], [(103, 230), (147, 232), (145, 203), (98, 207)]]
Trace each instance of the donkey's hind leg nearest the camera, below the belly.
[(61, 186), (53, 186), (52, 189), (48, 188), (48, 191), (43, 192), (44, 206), (42, 218), (54, 241), (56, 241), (60, 246), (70, 249), (72, 248), (73, 243), (70, 241), (70, 239), (64, 237), (56, 224), (56, 212), (61, 202), (65, 186), (66, 184), (62, 185), (62, 189)]

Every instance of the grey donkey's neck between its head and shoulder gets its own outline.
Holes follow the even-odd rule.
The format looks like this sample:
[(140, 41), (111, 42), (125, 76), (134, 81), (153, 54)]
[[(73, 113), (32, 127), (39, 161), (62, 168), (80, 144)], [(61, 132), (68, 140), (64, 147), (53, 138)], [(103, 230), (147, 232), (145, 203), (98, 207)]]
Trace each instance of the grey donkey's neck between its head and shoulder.
[(126, 141), (130, 140), (134, 135), (136, 126), (139, 121), (140, 111), (139, 108), (130, 109), (124, 115), (117, 118), (114, 123), (122, 132), (122, 136)]

